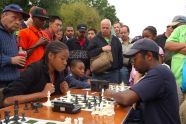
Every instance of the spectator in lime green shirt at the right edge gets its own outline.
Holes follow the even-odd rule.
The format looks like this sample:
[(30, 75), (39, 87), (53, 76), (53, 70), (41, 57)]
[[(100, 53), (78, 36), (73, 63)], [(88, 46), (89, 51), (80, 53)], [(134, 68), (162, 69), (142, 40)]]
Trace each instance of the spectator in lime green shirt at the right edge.
[(179, 86), (182, 84), (182, 67), (186, 58), (186, 17), (176, 16), (177, 25), (179, 25), (172, 32), (171, 36), (167, 39), (165, 48), (171, 52), (174, 52), (171, 62), (171, 70), (176, 77), (176, 82)]

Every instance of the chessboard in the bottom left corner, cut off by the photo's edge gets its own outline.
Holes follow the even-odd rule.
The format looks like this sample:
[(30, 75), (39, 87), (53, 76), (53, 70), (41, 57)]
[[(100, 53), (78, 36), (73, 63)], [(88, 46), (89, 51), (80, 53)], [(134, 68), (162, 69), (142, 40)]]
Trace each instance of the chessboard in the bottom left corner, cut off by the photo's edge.
[(61, 124), (62, 123), (60, 121), (43, 120), (43, 119), (36, 119), (30, 117), (19, 117), (17, 122), (15, 122), (13, 116), (10, 117), (9, 120), (4, 119), (1, 122), (2, 124)]

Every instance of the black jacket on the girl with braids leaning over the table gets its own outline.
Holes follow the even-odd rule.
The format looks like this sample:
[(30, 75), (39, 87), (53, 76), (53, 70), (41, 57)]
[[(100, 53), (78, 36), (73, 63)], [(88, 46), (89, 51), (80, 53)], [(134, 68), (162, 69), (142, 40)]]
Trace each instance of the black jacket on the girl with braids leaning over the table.
[[(64, 76), (62, 72), (55, 72), (55, 92), (60, 92), (60, 83), (64, 81)], [(43, 60), (28, 66), (22, 73), (18, 80), (12, 82), (4, 89), (4, 98), (11, 97), (15, 95), (25, 95), (36, 92), (41, 92), (46, 83), (50, 83), (50, 78), (48, 74), (48, 66)]]

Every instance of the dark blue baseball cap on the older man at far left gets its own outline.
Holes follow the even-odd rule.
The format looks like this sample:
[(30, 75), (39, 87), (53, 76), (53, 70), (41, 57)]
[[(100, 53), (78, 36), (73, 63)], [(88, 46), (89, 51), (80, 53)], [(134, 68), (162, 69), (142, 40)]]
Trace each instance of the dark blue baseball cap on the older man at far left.
[(22, 14), (23, 18), (29, 18), (30, 16), (23, 11), (23, 9), (17, 4), (9, 4), (3, 9), (3, 13), (6, 11), (12, 11)]

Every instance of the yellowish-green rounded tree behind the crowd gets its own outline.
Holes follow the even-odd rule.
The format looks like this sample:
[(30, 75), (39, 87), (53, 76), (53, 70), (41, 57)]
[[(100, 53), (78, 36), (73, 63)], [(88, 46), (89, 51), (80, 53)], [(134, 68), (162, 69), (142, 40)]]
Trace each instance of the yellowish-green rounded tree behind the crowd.
[(63, 4), (59, 11), (59, 15), (63, 17), (64, 27), (72, 25), (74, 28), (80, 23), (84, 23), (88, 28), (99, 29), (101, 17), (96, 9), (88, 7), (83, 2), (72, 4)]

